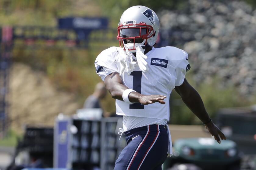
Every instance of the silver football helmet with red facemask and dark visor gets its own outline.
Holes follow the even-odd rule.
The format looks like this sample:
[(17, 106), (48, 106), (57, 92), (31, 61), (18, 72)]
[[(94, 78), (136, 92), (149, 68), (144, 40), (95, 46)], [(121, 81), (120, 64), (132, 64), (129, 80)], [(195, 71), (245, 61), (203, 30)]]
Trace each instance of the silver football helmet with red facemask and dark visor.
[(135, 52), (140, 45), (154, 46), (159, 32), (159, 19), (148, 7), (137, 5), (123, 12), (118, 24), (119, 45)]

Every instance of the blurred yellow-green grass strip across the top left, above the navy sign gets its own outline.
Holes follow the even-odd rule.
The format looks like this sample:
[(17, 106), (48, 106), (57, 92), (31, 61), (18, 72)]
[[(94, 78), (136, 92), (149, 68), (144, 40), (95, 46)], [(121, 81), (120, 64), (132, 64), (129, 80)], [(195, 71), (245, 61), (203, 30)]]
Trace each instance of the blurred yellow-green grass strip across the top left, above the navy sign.
[(92, 0), (1, 0), (1, 25), (56, 26), (64, 16), (101, 16)]

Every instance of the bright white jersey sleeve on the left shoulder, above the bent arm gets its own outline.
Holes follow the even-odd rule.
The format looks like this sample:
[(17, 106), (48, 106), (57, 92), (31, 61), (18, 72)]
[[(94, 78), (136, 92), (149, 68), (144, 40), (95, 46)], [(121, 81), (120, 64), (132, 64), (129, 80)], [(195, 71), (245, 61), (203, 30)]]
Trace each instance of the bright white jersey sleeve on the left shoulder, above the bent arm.
[(95, 60), (94, 65), (96, 68), (96, 73), (101, 77), (103, 81), (109, 74), (113, 72), (118, 72), (115, 62), (116, 53), (117, 49), (115, 47), (111, 47), (102, 51)]

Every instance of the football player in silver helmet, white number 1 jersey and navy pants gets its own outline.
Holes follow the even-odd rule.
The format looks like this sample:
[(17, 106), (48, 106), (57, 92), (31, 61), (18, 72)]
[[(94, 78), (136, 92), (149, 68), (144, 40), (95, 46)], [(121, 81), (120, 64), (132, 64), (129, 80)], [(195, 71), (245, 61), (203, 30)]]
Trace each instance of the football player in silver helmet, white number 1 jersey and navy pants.
[(102, 51), (95, 61), (97, 74), (116, 99), (116, 114), (123, 116), (119, 134), (125, 134), (127, 146), (116, 160), (115, 170), (162, 169), (167, 153), (172, 154), (166, 123), (173, 89), (216, 141), (226, 139), (185, 78), (190, 69), (188, 54), (171, 46), (154, 48), (158, 32), (154, 11), (145, 6), (130, 7), (119, 22), (120, 47)]

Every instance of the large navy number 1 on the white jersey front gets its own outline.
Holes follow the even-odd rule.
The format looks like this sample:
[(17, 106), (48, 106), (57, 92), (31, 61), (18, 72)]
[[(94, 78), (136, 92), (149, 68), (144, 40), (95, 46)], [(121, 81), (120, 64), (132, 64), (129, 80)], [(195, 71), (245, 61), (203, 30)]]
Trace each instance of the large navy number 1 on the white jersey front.
[[(130, 75), (133, 76), (133, 90), (141, 94), (142, 71), (133, 71)], [(130, 109), (144, 109), (144, 105), (140, 103), (133, 103), (130, 104)]]

